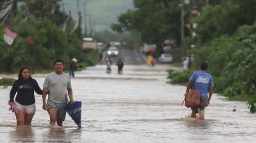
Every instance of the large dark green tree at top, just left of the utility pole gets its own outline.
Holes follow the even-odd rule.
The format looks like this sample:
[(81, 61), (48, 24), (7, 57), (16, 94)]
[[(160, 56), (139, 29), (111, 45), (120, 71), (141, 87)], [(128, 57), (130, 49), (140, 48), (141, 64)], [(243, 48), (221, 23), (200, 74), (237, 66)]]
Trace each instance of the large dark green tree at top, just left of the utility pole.
[(129, 10), (118, 17), (118, 24), (112, 24), (114, 31), (138, 29), (146, 43), (161, 44), (166, 38), (175, 38), (180, 43), (179, 0), (134, 0), (135, 10)]

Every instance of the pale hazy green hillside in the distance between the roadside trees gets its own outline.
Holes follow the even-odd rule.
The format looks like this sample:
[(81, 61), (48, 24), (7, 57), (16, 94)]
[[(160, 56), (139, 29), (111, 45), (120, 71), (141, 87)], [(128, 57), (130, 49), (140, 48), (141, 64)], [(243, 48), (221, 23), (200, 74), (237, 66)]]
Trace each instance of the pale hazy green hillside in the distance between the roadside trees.
[[(70, 10), (72, 18), (77, 20), (77, 0), (62, 0), (61, 6), (62, 3), (64, 3), (65, 11), (68, 13)], [(83, 17), (84, 4), (86, 4), (87, 22), (89, 22), (89, 15), (92, 15), (92, 21), (95, 20), (96, 31), (110, 29), (111, 23), (117, 22), (118, 15), (134, 8), (132, 0), (79, 0), (79, 10)], [(63, 7), (61, 7), (61, 10), (63, 10)]]

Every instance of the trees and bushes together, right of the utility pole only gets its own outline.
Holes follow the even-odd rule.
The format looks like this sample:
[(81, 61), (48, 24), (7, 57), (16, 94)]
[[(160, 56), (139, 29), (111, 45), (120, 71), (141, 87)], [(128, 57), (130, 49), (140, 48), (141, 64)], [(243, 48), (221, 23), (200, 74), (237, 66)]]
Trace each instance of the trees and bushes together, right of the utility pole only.
[[(256, 1), (228, 0), (202, 8), (195, 17), (196, 38), (187, 38), (185, 52), (195, 57), (193, 65), (209, 63), (214, 77), (214, 92), (235, 100), (249, 100), (255, 112), (256, 87)], [(191, 50), (189, 45), (196, 44)], [(254, 111), (253, 111), (254, 110)]]

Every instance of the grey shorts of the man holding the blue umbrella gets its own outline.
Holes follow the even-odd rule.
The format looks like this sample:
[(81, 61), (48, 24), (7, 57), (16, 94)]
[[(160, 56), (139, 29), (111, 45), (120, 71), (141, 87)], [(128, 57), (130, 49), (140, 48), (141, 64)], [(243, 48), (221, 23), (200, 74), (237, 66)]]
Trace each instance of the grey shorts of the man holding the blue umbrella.
[(65, 118), (66, 118), (66, 110), (64, 109), (65, 105), (67, 105), (67, 103), (56, 103), (56, 102), (52, 102), (51, 100), (48, 100), (47, 111), (49, 113), (49, 110), (51, 108), (56, 109), (58, 111), (57, 119), (60, 119), (61, 121), (65, 121)]

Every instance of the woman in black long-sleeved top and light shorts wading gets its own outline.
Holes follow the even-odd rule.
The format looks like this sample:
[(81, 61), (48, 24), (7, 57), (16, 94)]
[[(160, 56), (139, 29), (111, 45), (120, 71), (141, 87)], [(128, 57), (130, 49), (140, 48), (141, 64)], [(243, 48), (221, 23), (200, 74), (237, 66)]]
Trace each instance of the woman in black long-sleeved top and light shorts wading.
[[(37, 94), (42, 95), (42, 89), (40, 89), (36, 80), (32, 79), (30, 69), (22, 66), (18, 80), (13, 83), (10, 91), (10, 101), (8, 102), (11, 106), (17, 105), (18, 112), (15, 112), (17, 126), (31, 126), (31, 121), (36, 112), (35, 91)], [(45, 90), (45, 93), (47, 92)]]

